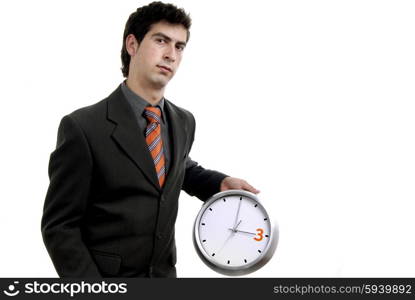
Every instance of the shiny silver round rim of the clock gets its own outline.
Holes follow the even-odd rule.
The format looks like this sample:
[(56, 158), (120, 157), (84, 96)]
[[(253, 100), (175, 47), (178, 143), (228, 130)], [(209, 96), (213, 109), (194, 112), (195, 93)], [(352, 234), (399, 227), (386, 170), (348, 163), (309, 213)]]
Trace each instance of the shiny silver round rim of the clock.
[[(217, 201), (218, 199), (221, 199), (223, 197), (228, 197), (228, 196), (244, 196), (247, 198), (251, 198), (252, 200), (256, 201), (261, 207), (262, 209), (265, 211), (265, 213), (268, 216), (268, 219), (270, 221), (270, 242), (267, 244), (264, 253), (257, 258), (256, 260), (248, 263), (245, 266), (238, 266), (238, 267), (229, 267), (229, 266), (224, 266), (224, 265), (220, 265), (218, 263), (216, 263), (212, 258), (210, 258), (210, 256), (203, 250), (203, 246), (202, 243), (200, 242), (200, 236), (199, 236), (199, 230), (198, 230), (198, 224), (200, 223), (200, 219), (202, 217), (202, 215), (204, 214), (205, 210), (210, 206), (210, 204), (212, 204), (213, 202)], [(200, 257), (200, 259), (208, 266), (210, 267), (212, 270), (214, 270), (215, 272), (224, 274), (224, 275), (229, 275), (229, 276), (240, 276), (240, 275), (246, 275), (252, 272), (257, 271), (258, 269), (260, 269), (261, 267), (263, 267), (274, 255), (275, 249), (277, 247), (278, 244), (278, 239), (279, 239), (279, 229), (278, 229), (278, 224), (273, 220), (272, 216), (270, 216), (268, 210), (264, 207), (264, 205), (261, 203), (261, 201), (258, 199), (258, 197), (248, 191), (244, 191), (244, 190), (227, 190), (224, 192), (219, 192), (215, 195), (213, 195), (212, 197), (210, 197), (203, 205), (202, 208), (200, 209), (195, 222), (194, 222), (194, 226), (193, 226), (193, 245), (196, 249), (196, 252), (198, 254), (198, 256)]]

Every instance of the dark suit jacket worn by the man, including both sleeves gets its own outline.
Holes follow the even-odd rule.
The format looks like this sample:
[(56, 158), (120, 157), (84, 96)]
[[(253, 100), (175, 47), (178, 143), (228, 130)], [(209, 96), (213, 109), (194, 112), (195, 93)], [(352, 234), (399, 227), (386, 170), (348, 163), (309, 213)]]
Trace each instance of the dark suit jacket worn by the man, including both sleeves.
[(180, 190), (206, 200), (226, 175), (186, 168), (195, 120), (170, 101), (165, 105), (172, 164), (162, 189), (120, 87), (62, 119), (42, 217), (43, 239), (61, 277), (176, 277)]

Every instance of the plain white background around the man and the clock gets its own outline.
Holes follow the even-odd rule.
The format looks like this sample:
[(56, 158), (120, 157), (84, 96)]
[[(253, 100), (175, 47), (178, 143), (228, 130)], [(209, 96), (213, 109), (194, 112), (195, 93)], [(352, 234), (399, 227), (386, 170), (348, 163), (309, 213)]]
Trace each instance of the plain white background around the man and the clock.
[[(122, 81), (140, 1), (0, 4), (0, 276), (57, 276), (40, 219), (60, 119)], [(175, 1), (193, 18), (166, 97), (197, 120), (191, 156), (248, 180), (280, 226), (248, 277), (415, 276), (413, 1)], [(191, 242), (179, 277), (222, 277)]]

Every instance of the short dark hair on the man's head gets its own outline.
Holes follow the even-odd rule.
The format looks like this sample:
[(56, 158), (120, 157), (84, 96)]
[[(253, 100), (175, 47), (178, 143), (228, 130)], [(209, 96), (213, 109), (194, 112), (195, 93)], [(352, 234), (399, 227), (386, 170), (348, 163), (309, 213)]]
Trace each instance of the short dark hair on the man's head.
[(139, 43), (144, 39), (147, 32), (150, 31), (151, 26), (160, 21), (166, 21), (170, 24), (181, 24), (187, 30), (187, 40), (190, 37), (190, 26), (192, 20), (190, 16), (182, 9), (177, 8), (173, 4), (166, 4), (163, 2), (152, 2), (146, 6), (137, 8), (128, 18), (125, 24), (123, 43), (121, 49), (121, 71), (124, 77), (128, 76), (130, 70), (130, 54), (128, 54), (125, 40), (129, 34), (134, 34)]

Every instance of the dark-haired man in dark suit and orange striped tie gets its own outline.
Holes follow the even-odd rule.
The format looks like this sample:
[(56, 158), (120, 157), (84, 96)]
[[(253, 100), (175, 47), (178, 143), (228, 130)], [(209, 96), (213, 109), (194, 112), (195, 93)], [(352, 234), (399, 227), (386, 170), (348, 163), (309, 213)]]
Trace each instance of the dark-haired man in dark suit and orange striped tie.
[(190, 24), (170, 4), (137, 9), (121, 53), (127, 80), (62, 119), (42, 218), (61, 277), (176, 277), (180, 190), (201, 200), (227, 189), (258, 192), (192, 161), (195, 120), (163, 97)]

